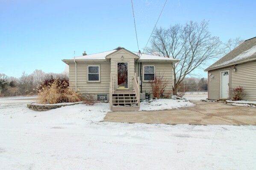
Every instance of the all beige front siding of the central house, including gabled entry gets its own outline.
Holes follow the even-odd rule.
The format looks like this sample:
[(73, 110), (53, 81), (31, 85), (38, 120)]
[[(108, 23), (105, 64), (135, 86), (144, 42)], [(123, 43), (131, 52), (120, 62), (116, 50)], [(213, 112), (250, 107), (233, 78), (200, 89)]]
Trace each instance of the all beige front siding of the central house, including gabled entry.
[[(123, 57), (122, 57), (123, 56)], [(117, 53), (110, 54), (108, 56), (108, 62), (97, 61), (82, 61), (77, 62), (77, 89), (82, 94), (93, 94), (96, 98), (96, 94), (109, 94), (109, 82), (110, 77), (114, 77), (114, 86), (117, 85), (117, 63), (128, 62), (128, 84), (129, 90), (132, 90), (132, 81), (135, 72), (139, 75), (138, 62), (135, 65), (137, 56), (126, 50), (120, 50)], [(87, 81), (87, 66), (88, 65), (100, 65), (100, 82), (88, 82)], [(172, 92), (173, 84), (173, 71), (172, 63), (170, 62), (143, 62), (142, 65), (155, 65), (156, 75), (164, 74), (164, 78), (168, 80), (168, 86), (166, 91)], [(143, 67), (142, 67), (143, 68)], [(142, 71), (143, 77), (143, 71)], [(75, 89), (75, 63), (69, 64), (69, 79), (71, 88)], [(151, 93), (150, 82), (142, 82), (142, 92)]]

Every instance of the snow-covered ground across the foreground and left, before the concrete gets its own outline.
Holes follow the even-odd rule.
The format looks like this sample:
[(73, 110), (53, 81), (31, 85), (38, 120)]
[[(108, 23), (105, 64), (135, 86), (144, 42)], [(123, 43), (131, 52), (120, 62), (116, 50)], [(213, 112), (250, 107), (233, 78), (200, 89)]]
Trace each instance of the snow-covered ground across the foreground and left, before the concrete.
[[(256, 166), (256, 127), (102, 122), (108, 104), (35, 112), (0, 99), (0, 170), (213, 170)], [(4, 103), (4, 104), (3, 104)]]

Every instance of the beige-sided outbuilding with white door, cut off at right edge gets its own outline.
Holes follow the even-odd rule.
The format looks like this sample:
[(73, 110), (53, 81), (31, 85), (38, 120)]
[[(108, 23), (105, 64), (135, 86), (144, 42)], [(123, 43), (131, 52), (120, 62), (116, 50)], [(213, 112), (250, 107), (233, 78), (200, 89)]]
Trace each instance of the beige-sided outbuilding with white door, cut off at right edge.
[(244, 41), (208, 71), (208, 99), (230, 99), (231, 88), (243, 87), (241, 99), (256, 100), (256, 37)]

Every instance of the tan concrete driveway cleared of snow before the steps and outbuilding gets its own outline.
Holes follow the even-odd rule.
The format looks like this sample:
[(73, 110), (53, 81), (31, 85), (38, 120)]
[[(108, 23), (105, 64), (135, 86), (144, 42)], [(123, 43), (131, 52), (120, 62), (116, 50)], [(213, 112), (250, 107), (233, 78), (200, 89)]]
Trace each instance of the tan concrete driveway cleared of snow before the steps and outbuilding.
[(256, 108), (232, 106), (221, 102), (192, 102), (196, 106), (165, 111), (109, 112), (104, 121), (191, 125), (256, 125)]

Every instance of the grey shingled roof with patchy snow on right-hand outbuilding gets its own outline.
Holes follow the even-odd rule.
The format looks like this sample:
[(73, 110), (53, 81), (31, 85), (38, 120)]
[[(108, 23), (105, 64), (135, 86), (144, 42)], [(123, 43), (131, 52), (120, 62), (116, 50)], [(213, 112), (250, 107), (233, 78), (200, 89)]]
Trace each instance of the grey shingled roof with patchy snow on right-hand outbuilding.
[(245, 40), (238, 47), (206, 68), (205, 71), (216, 70), (252, 60), (256, 60), (256, 37)]

